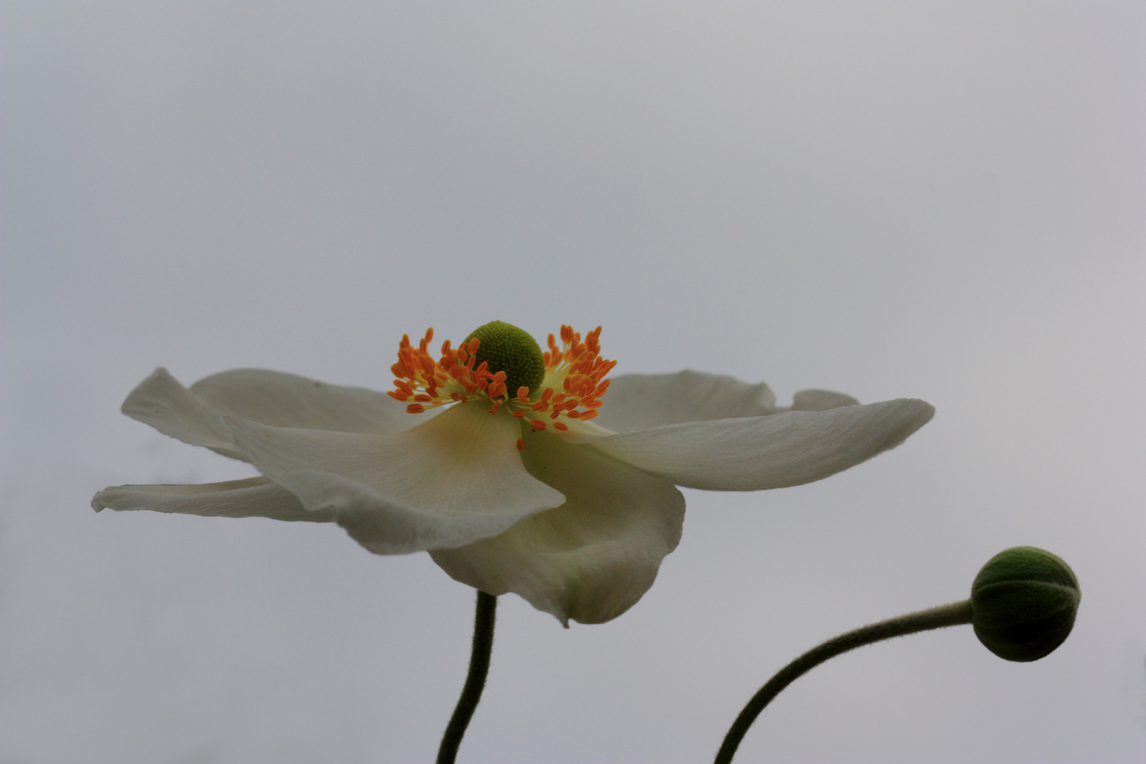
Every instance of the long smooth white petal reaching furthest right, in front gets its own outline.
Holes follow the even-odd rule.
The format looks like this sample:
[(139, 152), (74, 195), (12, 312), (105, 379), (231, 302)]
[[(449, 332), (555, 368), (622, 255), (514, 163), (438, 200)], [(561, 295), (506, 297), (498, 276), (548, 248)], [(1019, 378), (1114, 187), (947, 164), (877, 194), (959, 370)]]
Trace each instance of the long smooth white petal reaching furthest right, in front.
[(898, 399), (831, 411), (668, 425), (592, 441), (592, 448), (678, 486), (760, 490), (821, 480), (895, 448), (935, 412)]

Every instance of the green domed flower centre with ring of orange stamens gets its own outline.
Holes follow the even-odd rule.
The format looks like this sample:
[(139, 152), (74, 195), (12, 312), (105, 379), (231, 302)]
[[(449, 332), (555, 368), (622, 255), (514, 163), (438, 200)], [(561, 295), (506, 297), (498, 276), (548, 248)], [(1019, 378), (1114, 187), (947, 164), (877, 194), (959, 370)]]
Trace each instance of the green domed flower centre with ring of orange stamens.
[[(449, 340), (441, 356), (430, 354), (433, 329), (415, 347), (409, 334), (398, 346), (394, 389), (388, 395), (406, 401), (406, 410), (426, 409), (474, 399), (488, 399), (489, 413), (507, 409), (523, 425), (542, 431), (550, 425), (560, 431), (571, 422), (588, 422), (597, 416), (601, 397), (609, 389), (605, 377), (617, 361), (601, 357), (601, 326), (581, 340), (572, 326), (562, 326), (562, 347), (549, 336), (549, 349), (541, 352), (536, 340), (523, 330), (501, 321), (479, 326), (458, 348)], [(532, 394), (531, 394), (532, 391)], [(525, 448), (521, 439), (518, 448)]]

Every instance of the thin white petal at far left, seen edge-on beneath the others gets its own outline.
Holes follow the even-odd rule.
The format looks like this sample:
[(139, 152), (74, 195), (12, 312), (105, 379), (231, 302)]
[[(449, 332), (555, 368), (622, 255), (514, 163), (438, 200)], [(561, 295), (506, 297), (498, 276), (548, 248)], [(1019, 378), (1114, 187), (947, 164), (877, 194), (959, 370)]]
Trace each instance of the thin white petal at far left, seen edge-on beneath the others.
[(209, 518), (273, 518), (330, 522), (330, 512), (311, 512), (295, 494), (266, 478), (199, 486), (112, 486), (92, 498), (92, 509), (154, 510)]

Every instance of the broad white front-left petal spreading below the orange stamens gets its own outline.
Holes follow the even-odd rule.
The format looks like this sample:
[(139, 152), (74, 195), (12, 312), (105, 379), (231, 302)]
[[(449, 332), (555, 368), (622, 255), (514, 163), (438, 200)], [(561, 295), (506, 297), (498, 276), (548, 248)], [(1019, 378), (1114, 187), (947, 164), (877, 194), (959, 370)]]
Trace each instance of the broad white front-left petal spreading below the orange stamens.
[(398, 435), (223, 422), (259, 472), (378, 554), (470, 544), (565, 501), (521, 466), (517, 419), (478, 402)]

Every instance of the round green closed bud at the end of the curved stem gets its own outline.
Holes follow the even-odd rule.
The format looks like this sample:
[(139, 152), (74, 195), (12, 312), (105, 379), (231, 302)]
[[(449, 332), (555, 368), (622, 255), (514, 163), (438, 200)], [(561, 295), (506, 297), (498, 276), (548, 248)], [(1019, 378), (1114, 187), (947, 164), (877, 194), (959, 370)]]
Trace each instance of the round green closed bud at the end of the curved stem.
[(971, 585), (979, 641), (1008, 661), (1037, 661), (1066, 640), (1078, 611), (1078, 580), (1060, 558), (1034, 546), (999, 552)]

